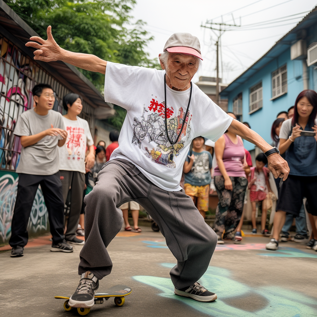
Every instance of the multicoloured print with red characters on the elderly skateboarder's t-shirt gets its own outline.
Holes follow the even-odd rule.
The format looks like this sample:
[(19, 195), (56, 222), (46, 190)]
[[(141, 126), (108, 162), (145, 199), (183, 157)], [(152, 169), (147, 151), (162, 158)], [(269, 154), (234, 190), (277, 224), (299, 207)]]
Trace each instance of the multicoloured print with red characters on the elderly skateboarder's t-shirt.
[[(155, 97), (157, 98), (157, 97)], [(185, 118), (185, 112), (182, 107), (178, 109), (178, 113), (174, 113), (173, 107), (166, 109), (167, 133), (172, 142), (175, 142), (181, 131), (183, 121), (184, 128), (179, 136), (178, 142), (171, 145), (167, 139), (165, 131), (165, 102), (159, 103), (152, 98), (149, 106), (144, 105), (141, 117), (133, 119), (133, 138), (132, 143), (139, 146), (139, 149), (146, 151), (144, 154), (152, 160), (152, 162), (165, 165), (169, 168), (175, 168), (174, 158), (179, 155), (179, 151), (184, 147), (183, 137), (189, 139), (190, 122), (192, 115), (188, 111)], [(147, 113), (147, 115), (146, 115)], [(173, 118), (171, 118), (174, 115)], [(147, 140), (146, 140), (147, 138)], [(154, 142), (155, 146), (149, 149), (144, 143)]]

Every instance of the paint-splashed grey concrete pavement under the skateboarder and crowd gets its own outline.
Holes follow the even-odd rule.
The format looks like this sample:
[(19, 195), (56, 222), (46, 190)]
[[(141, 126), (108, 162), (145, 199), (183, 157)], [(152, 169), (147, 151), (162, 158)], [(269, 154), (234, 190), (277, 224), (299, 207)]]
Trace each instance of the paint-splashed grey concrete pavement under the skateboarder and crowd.
[[(236, 245), (218, 245), (201, 284), (217, 293), (212, 303), (200, 303), (173, 294), (169, 270), (176, 260), (160, 232), (141, 227), (142, 233), (120, 231), (108, 250), (111, 275), (98, 291), (117, 284), (132, 287), (122, 307), (113, 299), (92, 307), (87, 316), (217, 316), (309, 317), (317, 315), (317, 252), (294, 242), (265, 250), (266, 237), (245, 237)], [(48, 237), (42, 238), (42, 240)], [(25, 249), (25, 256), (0, 253), (0, 315), (78, 316), (66, 312), (63, 300), (79, 282), (81, 246), (73, 253), (49, 252), (42, 244)]]

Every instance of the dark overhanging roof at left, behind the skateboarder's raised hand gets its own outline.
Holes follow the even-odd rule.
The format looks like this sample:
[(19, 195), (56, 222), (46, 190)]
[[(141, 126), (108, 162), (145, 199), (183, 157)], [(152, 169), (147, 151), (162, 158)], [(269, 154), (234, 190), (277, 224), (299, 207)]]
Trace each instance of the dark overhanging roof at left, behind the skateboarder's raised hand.
[[(33, 59), (35, 49), (26, 47), (31, 36), (39, 36), (27, 23), (25, 23), (3, 0), (0, 0), (0, 30), (3, 28), (16, 38), (15, 45)], [(78, 94), (92, 107), (113, 108), (113, 104), (106, 103), (103, 96), (78, 69), (62, 61), (41, 62), (36, 61), (50, 74), (70, 90)], [(71, 87), (71, 88), (70, 88)]]

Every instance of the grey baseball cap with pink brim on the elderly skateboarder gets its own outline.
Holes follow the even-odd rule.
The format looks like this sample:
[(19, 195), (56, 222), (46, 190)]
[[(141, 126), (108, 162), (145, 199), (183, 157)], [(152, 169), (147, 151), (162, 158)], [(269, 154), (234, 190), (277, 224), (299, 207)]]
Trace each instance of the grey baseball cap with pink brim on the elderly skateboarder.
[(194, 55), (203, 60), (199, 40), (190, 33), (174, 33), (165, 43), (163, 51)]

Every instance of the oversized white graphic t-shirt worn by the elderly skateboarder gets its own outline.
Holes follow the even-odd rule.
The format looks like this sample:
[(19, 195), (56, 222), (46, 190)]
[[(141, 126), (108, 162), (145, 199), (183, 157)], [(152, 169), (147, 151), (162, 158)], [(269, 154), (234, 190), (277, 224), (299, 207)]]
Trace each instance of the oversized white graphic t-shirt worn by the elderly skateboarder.
[[(179, 182), (191, 140), (201, 135), (216, 141), (230, 126), (232, 117), (192, 84), (185, 118), (190, 89), (175, 91), (167, 86), (166, 131), (164, 75), (162, 70), (107, 62), (105, 101), (127, 110), (119, 147), (110, 160), (126, 159), (160, 188), (180, 191)], [(178, 142), (171, 145), (166, 132), (172, 142), (180, 133)]]

